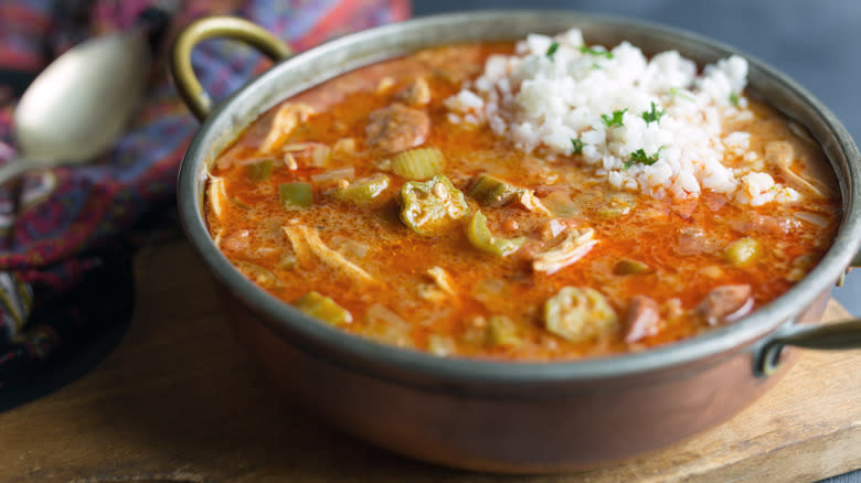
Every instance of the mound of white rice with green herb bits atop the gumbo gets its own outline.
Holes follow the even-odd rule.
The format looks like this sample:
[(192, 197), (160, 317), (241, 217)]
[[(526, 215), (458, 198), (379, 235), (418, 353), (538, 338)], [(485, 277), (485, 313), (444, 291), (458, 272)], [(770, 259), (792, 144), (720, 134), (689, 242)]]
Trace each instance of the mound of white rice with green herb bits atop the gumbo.
[[(450, 122), (487, 124), (527, 153), (542, 147), (551, 157), (571, 155), (578, 139), (576, 159), (616, 189), (657, 198), (697, 197), (708, 189), (754, 206), (794, 201), (798, 193), (767, 173), (724, 164), (730, 155), (757, 160), (748, 132), (723, 132), (725, 119), (753, 116), (743, 97), (746, 77), (747, 62), (738, 56), (698, 76), (693, 61), (678, 52), (647, 60), (627, 42), (589, 49), (572, 29), (554, 37), (531, 34), (514, 55), (490, 56), (483, 74), (445, 104)], [(647, 122), (652, 104), (663, 115)], [(621, 126), (602, 118), (620, 111)], [(638, 162), (642, 154), (647, 163)]]

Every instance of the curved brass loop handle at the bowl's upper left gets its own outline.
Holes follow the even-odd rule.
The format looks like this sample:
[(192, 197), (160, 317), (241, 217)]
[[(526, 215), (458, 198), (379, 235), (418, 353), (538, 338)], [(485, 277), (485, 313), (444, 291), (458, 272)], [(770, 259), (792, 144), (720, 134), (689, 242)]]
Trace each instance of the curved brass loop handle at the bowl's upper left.
[(208, 39), (227, 37), (256, 47), (273, 61), (293, 55), (290, 47), (262, 26), (235, 17), (209, 17), (189, 23), (177, 35), (170, 52), (170, 72), (177, 92), (189, 110), (203, 120), (212, 111), (212, 98), (191, 67), (191, 51)]

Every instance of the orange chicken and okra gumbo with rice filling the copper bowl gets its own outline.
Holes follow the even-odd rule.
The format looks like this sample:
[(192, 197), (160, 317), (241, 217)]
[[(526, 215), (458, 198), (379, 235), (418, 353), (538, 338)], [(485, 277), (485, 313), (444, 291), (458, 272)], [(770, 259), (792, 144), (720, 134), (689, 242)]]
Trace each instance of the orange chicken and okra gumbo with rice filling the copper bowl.
[(212, 164), (221, 251), (322, 323), (572, 359), (731, 324), (829, 248), (839, 195), (746, 63), (572, 30), (423, 50), (267, 111)]

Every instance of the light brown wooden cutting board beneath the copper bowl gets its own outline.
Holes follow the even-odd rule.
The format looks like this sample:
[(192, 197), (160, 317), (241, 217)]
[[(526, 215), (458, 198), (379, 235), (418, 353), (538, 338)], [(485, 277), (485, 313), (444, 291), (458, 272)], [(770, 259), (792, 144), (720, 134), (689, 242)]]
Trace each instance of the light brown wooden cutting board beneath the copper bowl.
[[(762, 483), (861, 468), (861, 351), (805, 352), (727, 423), (612, 468), (512, 477), (406, 460), (272, 397), (185, 243), (136, 261), (136, 313), (117, 350), (75, 383), (0, 414), (0, 481)], [(847, 316), (829, 304), (826, 320)]]

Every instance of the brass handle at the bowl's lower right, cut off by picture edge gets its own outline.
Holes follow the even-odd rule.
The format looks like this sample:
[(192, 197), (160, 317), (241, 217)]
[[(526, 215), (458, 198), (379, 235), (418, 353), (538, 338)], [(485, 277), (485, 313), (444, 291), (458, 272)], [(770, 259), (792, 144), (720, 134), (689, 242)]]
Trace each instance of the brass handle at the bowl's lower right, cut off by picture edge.
[(769, 376), (780, 365), (785, 345), (818, 350), (861, 348), (861, 319), (825, 325), (789, 324), (780, 328), (759, 348), (755, 372)]

